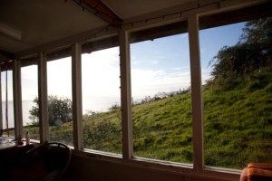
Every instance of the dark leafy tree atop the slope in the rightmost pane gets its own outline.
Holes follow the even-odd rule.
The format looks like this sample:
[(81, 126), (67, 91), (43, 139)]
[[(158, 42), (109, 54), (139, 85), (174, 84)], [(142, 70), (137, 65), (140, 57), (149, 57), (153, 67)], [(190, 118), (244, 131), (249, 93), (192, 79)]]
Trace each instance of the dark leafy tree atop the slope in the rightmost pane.
[(271, 67), (272, 18), (248, 22), (238, 43), (224, 46), (212, 64), (213, 82), (231, 84), (241, 77), (256, 77), (264, 68)]

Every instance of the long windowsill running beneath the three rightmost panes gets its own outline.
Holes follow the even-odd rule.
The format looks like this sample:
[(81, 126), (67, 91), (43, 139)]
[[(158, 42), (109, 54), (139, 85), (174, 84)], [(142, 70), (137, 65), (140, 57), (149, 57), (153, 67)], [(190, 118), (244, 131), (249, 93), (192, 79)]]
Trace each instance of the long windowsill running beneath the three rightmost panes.
[(178, 175), (186, 175), (189, 177), (210, 177), (212, 179), (238, 180), (241, 170), (221, 168), (221, 167), (204, 167), (202, 172), (197, 172), (192, 164), (183, 164), (176, 162), (161, 161), (144, 157), (132, 157), (129, 160), (122, 159), (121, 155), (102, 152), (92, 149), (84, 149), (83, 151), (73, 150), (73, 155), (78, 157), (88, 157), (91, 159), (111, 162), (128, 167), (141, 167), (159, 172), (174, 173)]

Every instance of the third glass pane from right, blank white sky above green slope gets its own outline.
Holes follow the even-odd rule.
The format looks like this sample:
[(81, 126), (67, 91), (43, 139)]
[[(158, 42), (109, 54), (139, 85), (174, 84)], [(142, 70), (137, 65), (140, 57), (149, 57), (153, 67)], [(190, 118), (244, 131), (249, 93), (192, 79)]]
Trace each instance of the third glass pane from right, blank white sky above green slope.
[(83, 147), (121, 154), (119, 47), (83, 54)]

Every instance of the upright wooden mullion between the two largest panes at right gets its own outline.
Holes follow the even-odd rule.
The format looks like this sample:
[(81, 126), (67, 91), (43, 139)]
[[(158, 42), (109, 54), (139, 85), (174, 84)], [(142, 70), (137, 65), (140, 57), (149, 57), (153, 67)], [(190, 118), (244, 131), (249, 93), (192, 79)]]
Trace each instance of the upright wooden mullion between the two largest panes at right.
[(202, 172), (204, 167), (203, 103), (199, 53), (199, 18), (197, 14), (191, 14), (189, 16), (188, 26), (193, 122), (193, 164), (196, 172)]

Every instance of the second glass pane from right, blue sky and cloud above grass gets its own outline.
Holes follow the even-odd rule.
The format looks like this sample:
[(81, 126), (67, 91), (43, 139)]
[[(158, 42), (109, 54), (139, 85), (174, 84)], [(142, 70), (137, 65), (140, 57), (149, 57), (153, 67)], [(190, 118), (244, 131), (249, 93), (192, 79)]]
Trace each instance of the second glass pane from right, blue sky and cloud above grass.
[(131, 44), (133, 155), (192, 163), (188, 33)]

